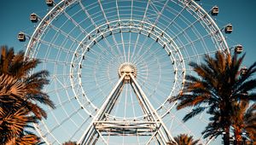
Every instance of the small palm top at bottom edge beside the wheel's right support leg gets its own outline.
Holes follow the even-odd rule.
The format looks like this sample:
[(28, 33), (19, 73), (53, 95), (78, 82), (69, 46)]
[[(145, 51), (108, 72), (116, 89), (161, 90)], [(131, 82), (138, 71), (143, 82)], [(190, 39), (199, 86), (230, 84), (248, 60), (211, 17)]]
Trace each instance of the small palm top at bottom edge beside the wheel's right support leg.
[(187, 134), (180, 134), (174, 137), (175, 142), (169, 142), (169, 145), (196, 145), (199, 140), (194, 141), (193, 136), (188, 136)]

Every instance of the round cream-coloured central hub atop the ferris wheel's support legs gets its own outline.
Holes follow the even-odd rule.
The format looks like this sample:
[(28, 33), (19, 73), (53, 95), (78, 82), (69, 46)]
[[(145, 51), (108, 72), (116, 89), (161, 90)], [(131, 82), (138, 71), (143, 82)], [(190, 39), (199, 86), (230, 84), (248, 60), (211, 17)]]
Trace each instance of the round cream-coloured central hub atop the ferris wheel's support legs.
[(125, 75), (125, 83), (129, 83), (130, 82), (130, 75), (131, 74), (134, 78), (136, 78), (137, 76), (137, 67), (132, 64), (131, 62), (125, 62), (122, 63), (119, 67), (119, 77), (123, 76), (124, 73), (126, 73)]

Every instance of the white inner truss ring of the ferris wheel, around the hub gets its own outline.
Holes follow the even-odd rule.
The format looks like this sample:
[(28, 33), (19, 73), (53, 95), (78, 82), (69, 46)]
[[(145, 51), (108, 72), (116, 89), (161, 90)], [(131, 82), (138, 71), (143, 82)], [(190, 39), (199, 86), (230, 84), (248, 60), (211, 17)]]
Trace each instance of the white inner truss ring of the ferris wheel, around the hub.
[[(165, 42), (164, 40), (161, 40), (161, 38), (159, 37), (159, 36), (156, 36), (156, 34), (154, 35), (154, 33), (152, 32), (152, 33), (150, 33), (150, 34), (152, 34), (152, 35), (154, 35), (154, 40), (156, 40), (156, 38), (159, 38), (159, 41), (162, 41), (163, 42), (163, 45), (166, 45), (166, 44), (169, 44), (170, 42), (172, 42), (172, 49), (175, 49), (175, 51), (178, 53), (178, 59), (179, 60), (183, 60), (183, 56), (181, 55), (181, 53), (180, 53), (180, 51), (177, 49), (177, 44), (175, 44), (175, 42), (173, 42), (172, 41), (172, 38), (168, 35), (168, 34), (166, 34), (166, 32), (163, 32), (163, 31), (161, 31), (161, 29), (158, 27), (158, 26), (153, 26), (152, 24), (150, 24), (150, 23), (148, 23), (147, 21), (141, 21), (141, 20), (113, 20), (113, 21), (109, 21), (108, 22), (108, 24), (102, 24), (101, 26), (97, 26), (94, 30), (92, 30), (91, 32), (88, 32), (88, 34), (84, 37), (84, 39), (79, 43), (79, 45), (78, 45), (78, 47), (77, 47), (77, 49), (75, 50), (75, 52), (74, 52), (74, 54), (80, 54), (79, 52), (78, 52), (78, 49), (83, 49), (83, 42), (84, 42), (84, 40), (85, 39), (92, 39), (91, 40), (91, 42), (90, 42), (90, 44), (92, 44), (92, 46), (90, 46), (90, 44), (87, 44), (86, 45), (86, 47), (85, 47), (85, 50), (84, 50), (84, 52), (86, 53), (86, 51), (87, 51), (87, 49), (89, 49), (89, 48), (92, 48), (93, 47), (93, 45), (95, 45), (95, 44), (93, 44), (95, 41), (96, 41), (96, 38), (91, 38), (90, 36), (92, 36), (93, 35), (93, 32), (96, 32), (97, 30), (99, 30), (101, 27), (104, 27), (104, 26), (110, 26), (109, 27), (109, 29), (107, 30), (107, 31), (105, 31), (105, 32), (102, 32), (101, 31), (101, 33), (100, 33), (100, 35), (98, 35), (97, 36), (97, 38), (101, 38), (105, 33), (107, 33), (107, 32), (112, 32), (113, 33), (113, 35), (115, 34), (113, 31), (114, 31), (114, 29), (116, 29), (116, 30), (119, 30), (120, 29), (120, 27), (123, 29), (122, 30), (122, 32), (125, 32), (124, 31), (124, 29), (125, 29), (125, 26), (122, 26), (122, 25), (119, 25), (119, 26), (117, 26), (117, 27), (115, 27), (115, 28), (112, 28), (111, 27), (111, 24), (113, 23), (113, 24), (116, 24), (117, 22), (121, 22), (121, 21), (125, 21), (126, 23), (131, 23), (131, 22), (138, 22), (138, 23), (140, 23), (140, 24), (147, 24), (149, 27), (148, 28), (150, 28), (150, 26), (151, 27), (154, 27), (154, 30), (156, 31), (156, 30), (159, 30), (158, 32), (162, 32), (162, 37), (163, 36), (165, 36), (166, 37), (166, 40), (169, 40), (168, 42)], [(134, 24), (134, 23), (133, 23)], [(140, 27), (140, 28), (137, 28), (137, 27), (135, 27), (135, 26), (126, 26), (127, 28), (129, 28), (129, 29), (137, 29), (138, 31), (137, 32), (141, 32), (141, 34), (143, 34), (143, 35), (145, 35), (146, 36), (146, 33), (143, 33), (143, 31), (148, 31), (148, 30), (144, 30), (144, 28), (146, 27), (146, 26), (142, 26), (142, 27)], [(127, 30), (127, 32), (132, 32), (131, 30)], [(133, 32), (135, 32), (135, 31), (133, 31)], [(117, 32), (118, 33), (118, 32)], [(148, 32), (149, 33), (149, 32)], [(106, 36), (106, 37), (108, 37), (108, 36)], [(104, 36), (104, 38), (106, 38), (105, 36)], [(149, 38), (151, 38), (151, 36), (148, 36)], [(164, 39), (164, 38), (163, 38)], [(100, 40), (101, 41), (101, 40)], [(97, 42), (97, 41), (96, 41)], [(171, 44), (171, 43), (170, 43)], [(164, 48), (164, 49), (166, 49), (166, 54), (168, 55), (168, 53), (167, 52), (171, 52), (172, 50), (169, 48), (169, 46), (167, 46), (166, 45), (166, 48)], [(83, 53), (83, 52), (82, 52)], [(84, 55), (84, 53), (83, 53), (83, 56), (85, 56)], [(173, 58), (174, 56), (172, 55), (172, 59), (171, 59), (171, 61), (173, 61), (173, 60), (176, 60), (175, 58)], [(80, 61), (79, 62), (73, 62), (73, 60), (75, 59), (75, 60), (77, 60), (77, 58), (78, 58), (78, 55), (73, 55), (73, 59), (72, 59), (72, 62), (71, 62), (71, 65), (73, 65), (73, 64), (81, 64), (81, 61), (82, 61), (82, 59), (80, 59)], [(174, 66), (175, 66), (175, 69), (177, 69), (177, 70), (180, 70), (180, 71), (182, 71), (182, 73), (183, 74), (185, 74), (185, 68), (184, 68), (184, 61), (181, 61), (181, 63), (182, 63), (182, 68), (180, 68), (180, 69), (177, 69), (177, 63), (175, 63), (174, 64)], [(170, 64), (171, 65), (171, 64)], [(79, 73), (81, 73), (81, 70), (80, 70), (81, 68), (78, 68), (78, 73), (73, 73), (73, 67), (70, 67), (70, 74), (79, 74)], [(79, 77), (79, 75), (76, 75), (78, 78), (77, 79), (79, 79), (79, 83), (81, 83), (81, 77)], [(73, 76), (74, 77), (74, 76)], [(71, 80), (71, 82), (73, 83), (73, 77), (72, 78), (70, 78), (70, 80)], [(177, 73), (175, 74), (175, 78), (177, 78)], [(183, 75), (183, 78), (184, 78), (184, 75)], [(170, 95), (169, 96), (166, 96), (166, 100), (159, 106), (159, 107), (157, 107), (156, 108), (156, 110), (160, 110), (161, 108), (163, 108), (163, 106), (165, 105), (165, 103), (169, 103), (168, 102), (168, 100), (170, 99), (170, 97), (171, 97), (171, 94), (172, 94), (172, 91), (174, 90), (174, 86), (176, 86), (176, 81), (174, 82), (174, 85), (173, 85), (173, 87), (172, 87), (172, 90), (171, 90), (171, 92), (170, 92)], [(72, 84), (73, 85), (73, 88), (75, 88), (74, 87), (74, 84)], [(82, 89), (82, 92), (84, 92), (84, 90), (83, 90), (83, 87), (81, 87), (81, 89)], [(73, 90), (73, 92), (76, 94), (76, 91), (75, 90)], [(88, 104), (89, 105), (92, 105), (92, 107), (93, 108), (95, 108), (96, 110), (98, 110), (99, 108), (98, 107), (96, 107), (95, 105), (93, 105), (93, 103), (91, 103), (90, 102), (90, 99), (88, 99), (88, 97), (86, 96), (86, 94), (85, 93), (83, 93), (84, 94), (84, 96), (83, 97), (85, 97), (86, 98), (86, 100), (88, 100)], [(79, 100), (78, 100), (78, 102), (79, 102)], [(83, 106), (82, 104), (83, 103), (81, 103), (81, 102), (79, 102), (80, 103), (80, 105), (81, 106)], [(87, 103), (84, 103), (84, 104), (87, 104)], [(171, 110), (172, 109), (172, 107), (169, 109), (169, 110)], [(168, 110), (168, 111), (169, 111)], [(168, 113), (168, 111), (166, 112), (166, 113)], [(89, 111), (87, 111), (86, 110), (86, 113), (89, 113), (89, 115), (92, 115), (92, 116), (94, 116), (92, 113), (90, 113)], [(166, 116), (166, 113), (164, 113), (164, 114), (162, 114), (161, 116), (162, 117), (164, 117), (164, 116)]]

